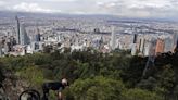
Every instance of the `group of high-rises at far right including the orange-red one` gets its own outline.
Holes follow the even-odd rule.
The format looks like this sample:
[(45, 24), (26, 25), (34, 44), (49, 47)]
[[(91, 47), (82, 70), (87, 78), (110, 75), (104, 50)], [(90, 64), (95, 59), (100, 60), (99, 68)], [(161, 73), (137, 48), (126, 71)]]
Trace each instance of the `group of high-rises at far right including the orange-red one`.
[(132, 55), (157, 55), (165, 52), (174, 52), (178, 47), (178, 32), (169, 35), (160, 35), (147, 38), (135, 34), (131, 48)]

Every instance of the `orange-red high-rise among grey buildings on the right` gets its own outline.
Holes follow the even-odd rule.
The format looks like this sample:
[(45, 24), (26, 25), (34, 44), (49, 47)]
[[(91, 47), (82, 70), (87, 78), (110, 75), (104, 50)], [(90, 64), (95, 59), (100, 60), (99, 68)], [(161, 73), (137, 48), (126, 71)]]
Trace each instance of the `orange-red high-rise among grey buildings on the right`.
[(157, 39), (155, 54), (163, 53), (165, 48), (165, 41), (163, 39)]

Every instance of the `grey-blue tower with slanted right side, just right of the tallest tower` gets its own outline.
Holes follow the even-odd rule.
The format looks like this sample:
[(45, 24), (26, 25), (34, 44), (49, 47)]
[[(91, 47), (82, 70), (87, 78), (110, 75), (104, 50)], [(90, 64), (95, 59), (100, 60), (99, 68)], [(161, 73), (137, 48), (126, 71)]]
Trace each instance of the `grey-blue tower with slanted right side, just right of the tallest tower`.
[(21, 42), (21, 45), (29, 45), (30, 43), (29, 37), (26, 33), (24, 24), (21, 24), (21, 28), (20, 28), (20, 42)]

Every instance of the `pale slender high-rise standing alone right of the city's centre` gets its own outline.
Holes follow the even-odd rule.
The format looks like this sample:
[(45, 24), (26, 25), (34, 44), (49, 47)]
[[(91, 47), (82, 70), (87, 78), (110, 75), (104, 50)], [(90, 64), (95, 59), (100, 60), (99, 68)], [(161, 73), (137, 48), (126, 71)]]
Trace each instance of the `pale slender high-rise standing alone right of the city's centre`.
[(111, 49), (114, 50), (115, 48), (116, 48), (116, 33), (115, 33), (115, 27), (112, 26)]

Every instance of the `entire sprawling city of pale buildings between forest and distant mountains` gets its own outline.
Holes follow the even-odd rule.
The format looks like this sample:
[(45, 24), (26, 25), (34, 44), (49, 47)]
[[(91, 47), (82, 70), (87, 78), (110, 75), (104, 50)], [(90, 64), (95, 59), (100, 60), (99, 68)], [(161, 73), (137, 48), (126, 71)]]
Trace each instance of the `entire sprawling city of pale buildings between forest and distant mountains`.
[(93, 48), (103, 53), (115, 49), (130, 50), (132, 55), (148, 57), (174, 52), (178, 38), (175, 28), (160, 23), (50, 18), (41, 20), (37, 25), (34, 24), (36, 20), (27, 23), (17, 16), (14, 21), (0, 28), (0, 33), (5, 33), (0, 35), (0, 57), (42, 52), (47, 46), (53, 50), (71, 48), (72, 51)]

